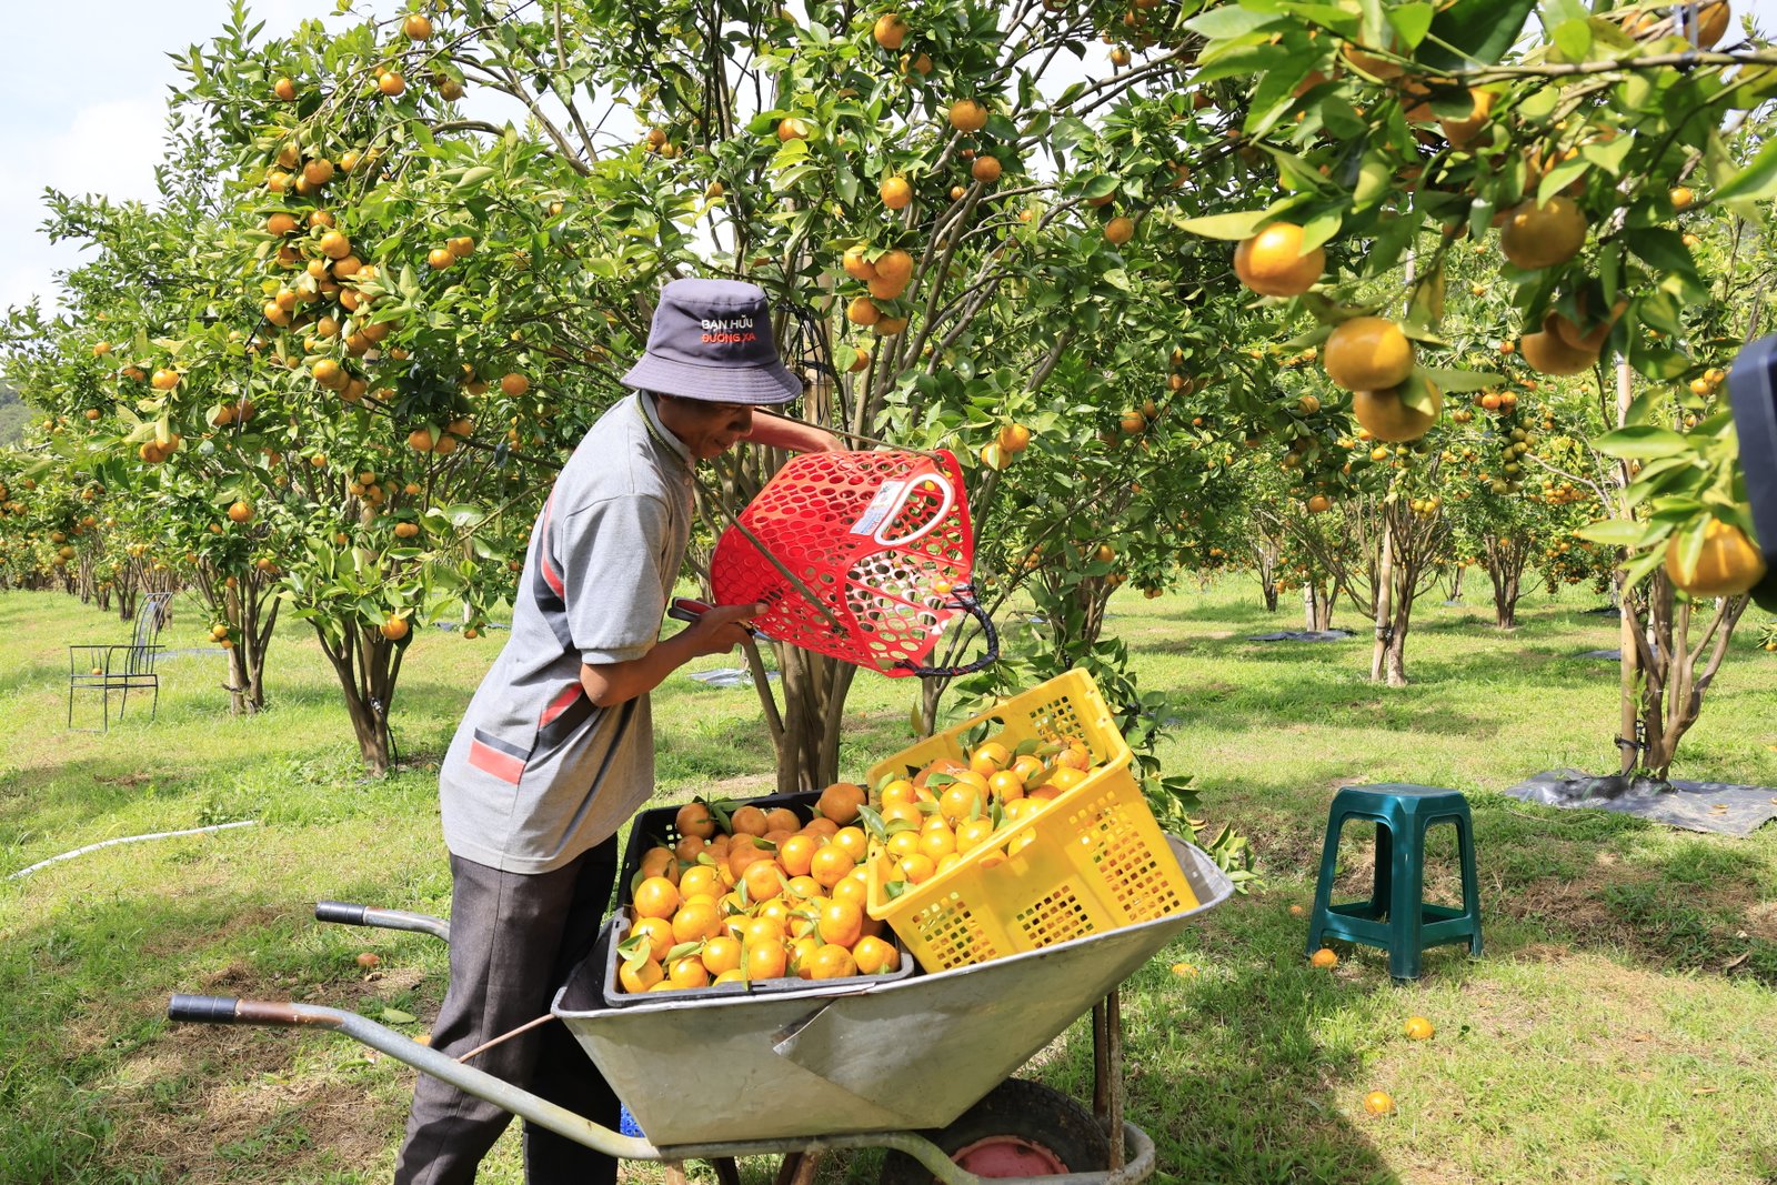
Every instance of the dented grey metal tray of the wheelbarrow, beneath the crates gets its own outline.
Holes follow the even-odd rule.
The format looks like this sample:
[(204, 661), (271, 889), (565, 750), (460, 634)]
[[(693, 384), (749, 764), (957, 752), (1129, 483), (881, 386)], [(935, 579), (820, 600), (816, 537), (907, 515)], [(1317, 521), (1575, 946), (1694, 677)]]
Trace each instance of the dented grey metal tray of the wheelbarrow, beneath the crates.
[(1214, 860), (1167, 842), (1199, 904), (1151, 922), (862, 988), (622, 1009), (594, 950), (551, 1011), (656, 1146), (942, 1128), (1228, 899)]

